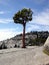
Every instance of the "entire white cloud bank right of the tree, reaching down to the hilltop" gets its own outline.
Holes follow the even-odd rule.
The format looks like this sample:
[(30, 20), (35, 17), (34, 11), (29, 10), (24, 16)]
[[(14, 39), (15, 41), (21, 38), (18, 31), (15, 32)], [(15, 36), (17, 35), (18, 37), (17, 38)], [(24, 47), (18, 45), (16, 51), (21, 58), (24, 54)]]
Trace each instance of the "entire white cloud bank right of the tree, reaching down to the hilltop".
[(36, 12), (33, 14), (33, 20), (29, 22), (27, 31), (49, 31), (49, 9), (45, 9), (42, 12)]

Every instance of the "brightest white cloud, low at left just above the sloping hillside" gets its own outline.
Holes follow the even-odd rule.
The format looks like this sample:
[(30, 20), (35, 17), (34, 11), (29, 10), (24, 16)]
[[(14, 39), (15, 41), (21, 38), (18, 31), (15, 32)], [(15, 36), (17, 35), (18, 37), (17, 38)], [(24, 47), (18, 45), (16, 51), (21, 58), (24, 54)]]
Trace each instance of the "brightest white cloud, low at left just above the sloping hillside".
[(11, 28), (11, 29), (0, 29), (0, 41), (1, 40), (5, 40), (5, 39), (9, 39), (14, 37), (17, 34), (20, 34), (21, 31), (16, 31), (16, 29)]

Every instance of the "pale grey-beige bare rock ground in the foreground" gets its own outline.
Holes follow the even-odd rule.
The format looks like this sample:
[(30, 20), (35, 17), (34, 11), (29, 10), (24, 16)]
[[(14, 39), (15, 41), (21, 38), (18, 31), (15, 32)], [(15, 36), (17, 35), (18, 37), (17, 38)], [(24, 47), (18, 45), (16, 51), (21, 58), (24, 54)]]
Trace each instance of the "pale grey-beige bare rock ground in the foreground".
[(49, 65), (49, 56), (42, 50), (43, 46), (0, 50), (0, 65)]

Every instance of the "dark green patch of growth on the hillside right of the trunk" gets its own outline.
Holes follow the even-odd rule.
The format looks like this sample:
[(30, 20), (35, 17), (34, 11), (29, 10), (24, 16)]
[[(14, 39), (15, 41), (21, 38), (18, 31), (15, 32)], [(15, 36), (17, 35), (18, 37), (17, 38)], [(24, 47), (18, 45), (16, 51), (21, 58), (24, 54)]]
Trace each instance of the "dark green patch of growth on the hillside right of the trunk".
[(28, 45), (29, 46), (41, 46), (45, 42), (45, 38), (35, 38), (35, 39), (29, 39)]

